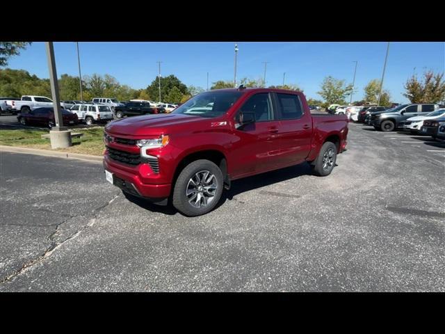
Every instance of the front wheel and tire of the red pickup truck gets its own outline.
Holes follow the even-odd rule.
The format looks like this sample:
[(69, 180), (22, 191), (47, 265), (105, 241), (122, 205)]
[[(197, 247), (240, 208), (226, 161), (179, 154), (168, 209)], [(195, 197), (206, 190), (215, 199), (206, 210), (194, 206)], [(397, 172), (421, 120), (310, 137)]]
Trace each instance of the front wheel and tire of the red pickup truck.
[[(206, 192), (206, 187), (211, 191)], [(220, 168), (209, 160), (196, 160), (179, 173), (173, 190), (172, 203), (185, 216), (207, 214), (218, 204), (223, 188), (223, 173)]]

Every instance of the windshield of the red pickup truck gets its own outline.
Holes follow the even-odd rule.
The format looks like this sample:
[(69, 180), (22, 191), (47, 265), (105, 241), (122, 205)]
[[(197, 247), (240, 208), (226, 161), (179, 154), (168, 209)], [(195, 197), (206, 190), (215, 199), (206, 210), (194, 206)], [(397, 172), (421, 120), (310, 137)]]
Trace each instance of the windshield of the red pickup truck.
[(223, 90), (201, 93), (192, 97), (172, 113), (207, 118), (223, 116), (241, 95), (243, 95), (243, 92)]

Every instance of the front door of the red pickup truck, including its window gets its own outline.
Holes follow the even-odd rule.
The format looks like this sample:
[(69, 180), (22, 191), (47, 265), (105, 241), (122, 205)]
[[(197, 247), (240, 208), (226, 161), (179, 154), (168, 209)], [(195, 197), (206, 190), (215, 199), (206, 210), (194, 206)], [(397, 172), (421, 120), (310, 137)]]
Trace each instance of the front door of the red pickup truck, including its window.
[[(255, 122), (240, 126), (242, 113), (254, 113)], [(277, 168), (278, 122), (273, 111), (270, 93), (256, 93), (235, 113), (234, 134), (238, 136), (231, 148), (232, 177), (241, 177), (251, 173), (259, 173)]]

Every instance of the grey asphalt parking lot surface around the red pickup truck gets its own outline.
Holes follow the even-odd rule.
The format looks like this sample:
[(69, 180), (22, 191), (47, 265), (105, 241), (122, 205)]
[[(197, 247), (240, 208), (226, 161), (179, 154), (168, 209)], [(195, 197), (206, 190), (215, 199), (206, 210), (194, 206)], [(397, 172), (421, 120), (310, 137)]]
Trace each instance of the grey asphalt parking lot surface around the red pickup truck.
[(195, 218), (127, 200), (100, 164), (3, 152), (0, 291), (445, 292), (444, 145), (348, 141), (329, 177), (238, 180)]

